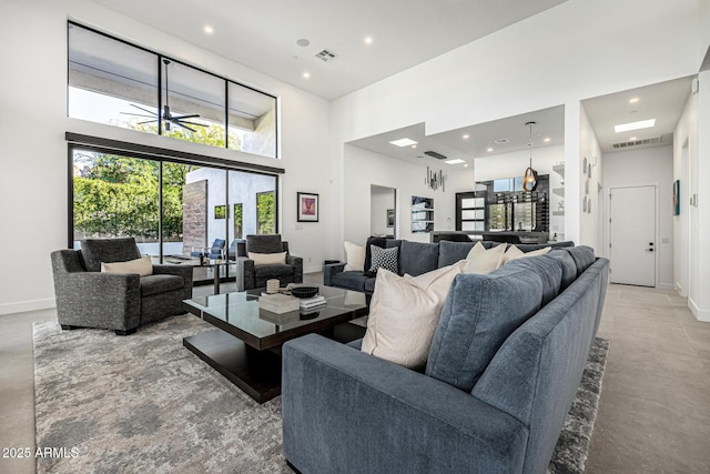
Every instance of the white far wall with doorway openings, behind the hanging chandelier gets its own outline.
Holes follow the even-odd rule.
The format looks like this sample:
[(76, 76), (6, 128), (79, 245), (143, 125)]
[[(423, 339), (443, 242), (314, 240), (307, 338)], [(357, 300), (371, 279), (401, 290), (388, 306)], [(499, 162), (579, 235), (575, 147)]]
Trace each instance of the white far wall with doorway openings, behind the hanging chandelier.
[[(425, 183), (426, 164), (418, 165), (403, 160), (384, 157), (353, 145), (345, 145), (344, 201), (345, 239), (364, 244), (369, 235), (369, 190), (372, 184), (397, 190), (397, 229), (400, 239), (429, 242), (428, 233), (412, 232), (412, 196), (434, 198), (434, 229), (437, 231), (454, 230), (456, 193), (471, 191), (474, 172), (469, 169), (456, 168), (447, 171), (446, 191), (434, 191)], [(439, 169), (438, 167), (436, 168)], [(339, 242), (338, 251), (342, 253)], [(341, 255), (337, 253), (337, 255)]]

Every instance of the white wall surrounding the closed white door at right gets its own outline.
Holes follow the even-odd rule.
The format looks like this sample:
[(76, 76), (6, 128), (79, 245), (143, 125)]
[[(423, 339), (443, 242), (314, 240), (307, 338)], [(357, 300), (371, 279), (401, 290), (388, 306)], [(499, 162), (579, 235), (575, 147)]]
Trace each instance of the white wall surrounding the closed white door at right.
[[(656, 186), (656, 282), (672, 289), (673, 278), (673, 149), (672, 147), (607, 153), (604, 160), (604, 244), (609, 258), (609, 190), (611, 188)], [(613, 262), (611, 262), (613, 265)]]

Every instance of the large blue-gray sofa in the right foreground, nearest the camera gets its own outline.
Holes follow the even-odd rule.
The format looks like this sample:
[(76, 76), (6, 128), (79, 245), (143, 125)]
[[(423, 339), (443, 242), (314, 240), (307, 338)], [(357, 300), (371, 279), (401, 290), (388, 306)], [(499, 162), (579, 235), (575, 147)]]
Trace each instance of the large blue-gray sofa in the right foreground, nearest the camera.
[(283, 451), (303, 473), (544, 473), (609, 262), (552, 250), (454, 280), (424, 372), (317, 334), (283, 347)]

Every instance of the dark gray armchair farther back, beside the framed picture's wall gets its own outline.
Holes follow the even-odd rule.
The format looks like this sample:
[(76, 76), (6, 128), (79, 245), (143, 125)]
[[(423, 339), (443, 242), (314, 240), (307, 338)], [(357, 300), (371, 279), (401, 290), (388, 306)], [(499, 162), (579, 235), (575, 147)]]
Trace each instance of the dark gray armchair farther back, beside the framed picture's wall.
[[(286, 263), (255, 265), (248, 253), (286, 252)], [(278, 279), (281, 285), (303, 282), (303, 259), (288, 253), (288, 242), (280, 234), (246, 235), (236, 243), (237, 291), (266, 286), (266, 280)]]

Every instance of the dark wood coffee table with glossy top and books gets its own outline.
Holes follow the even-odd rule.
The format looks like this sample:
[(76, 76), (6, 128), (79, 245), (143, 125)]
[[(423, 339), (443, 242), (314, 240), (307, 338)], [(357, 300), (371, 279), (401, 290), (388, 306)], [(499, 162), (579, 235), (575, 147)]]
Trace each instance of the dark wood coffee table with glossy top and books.
[(313, 286), (318, 286), (327, 306), (304, 316), (298, 311), (275, 314), (261, 310), (263, 289), (185, 300), (186, 311), (217, 330), (185, 337), (183, 345), (264, 403), (281, 394), (281, 346), (286, 341), (308, 333), (338, 339), (338, 325), (367, 314), (364, 293)]

